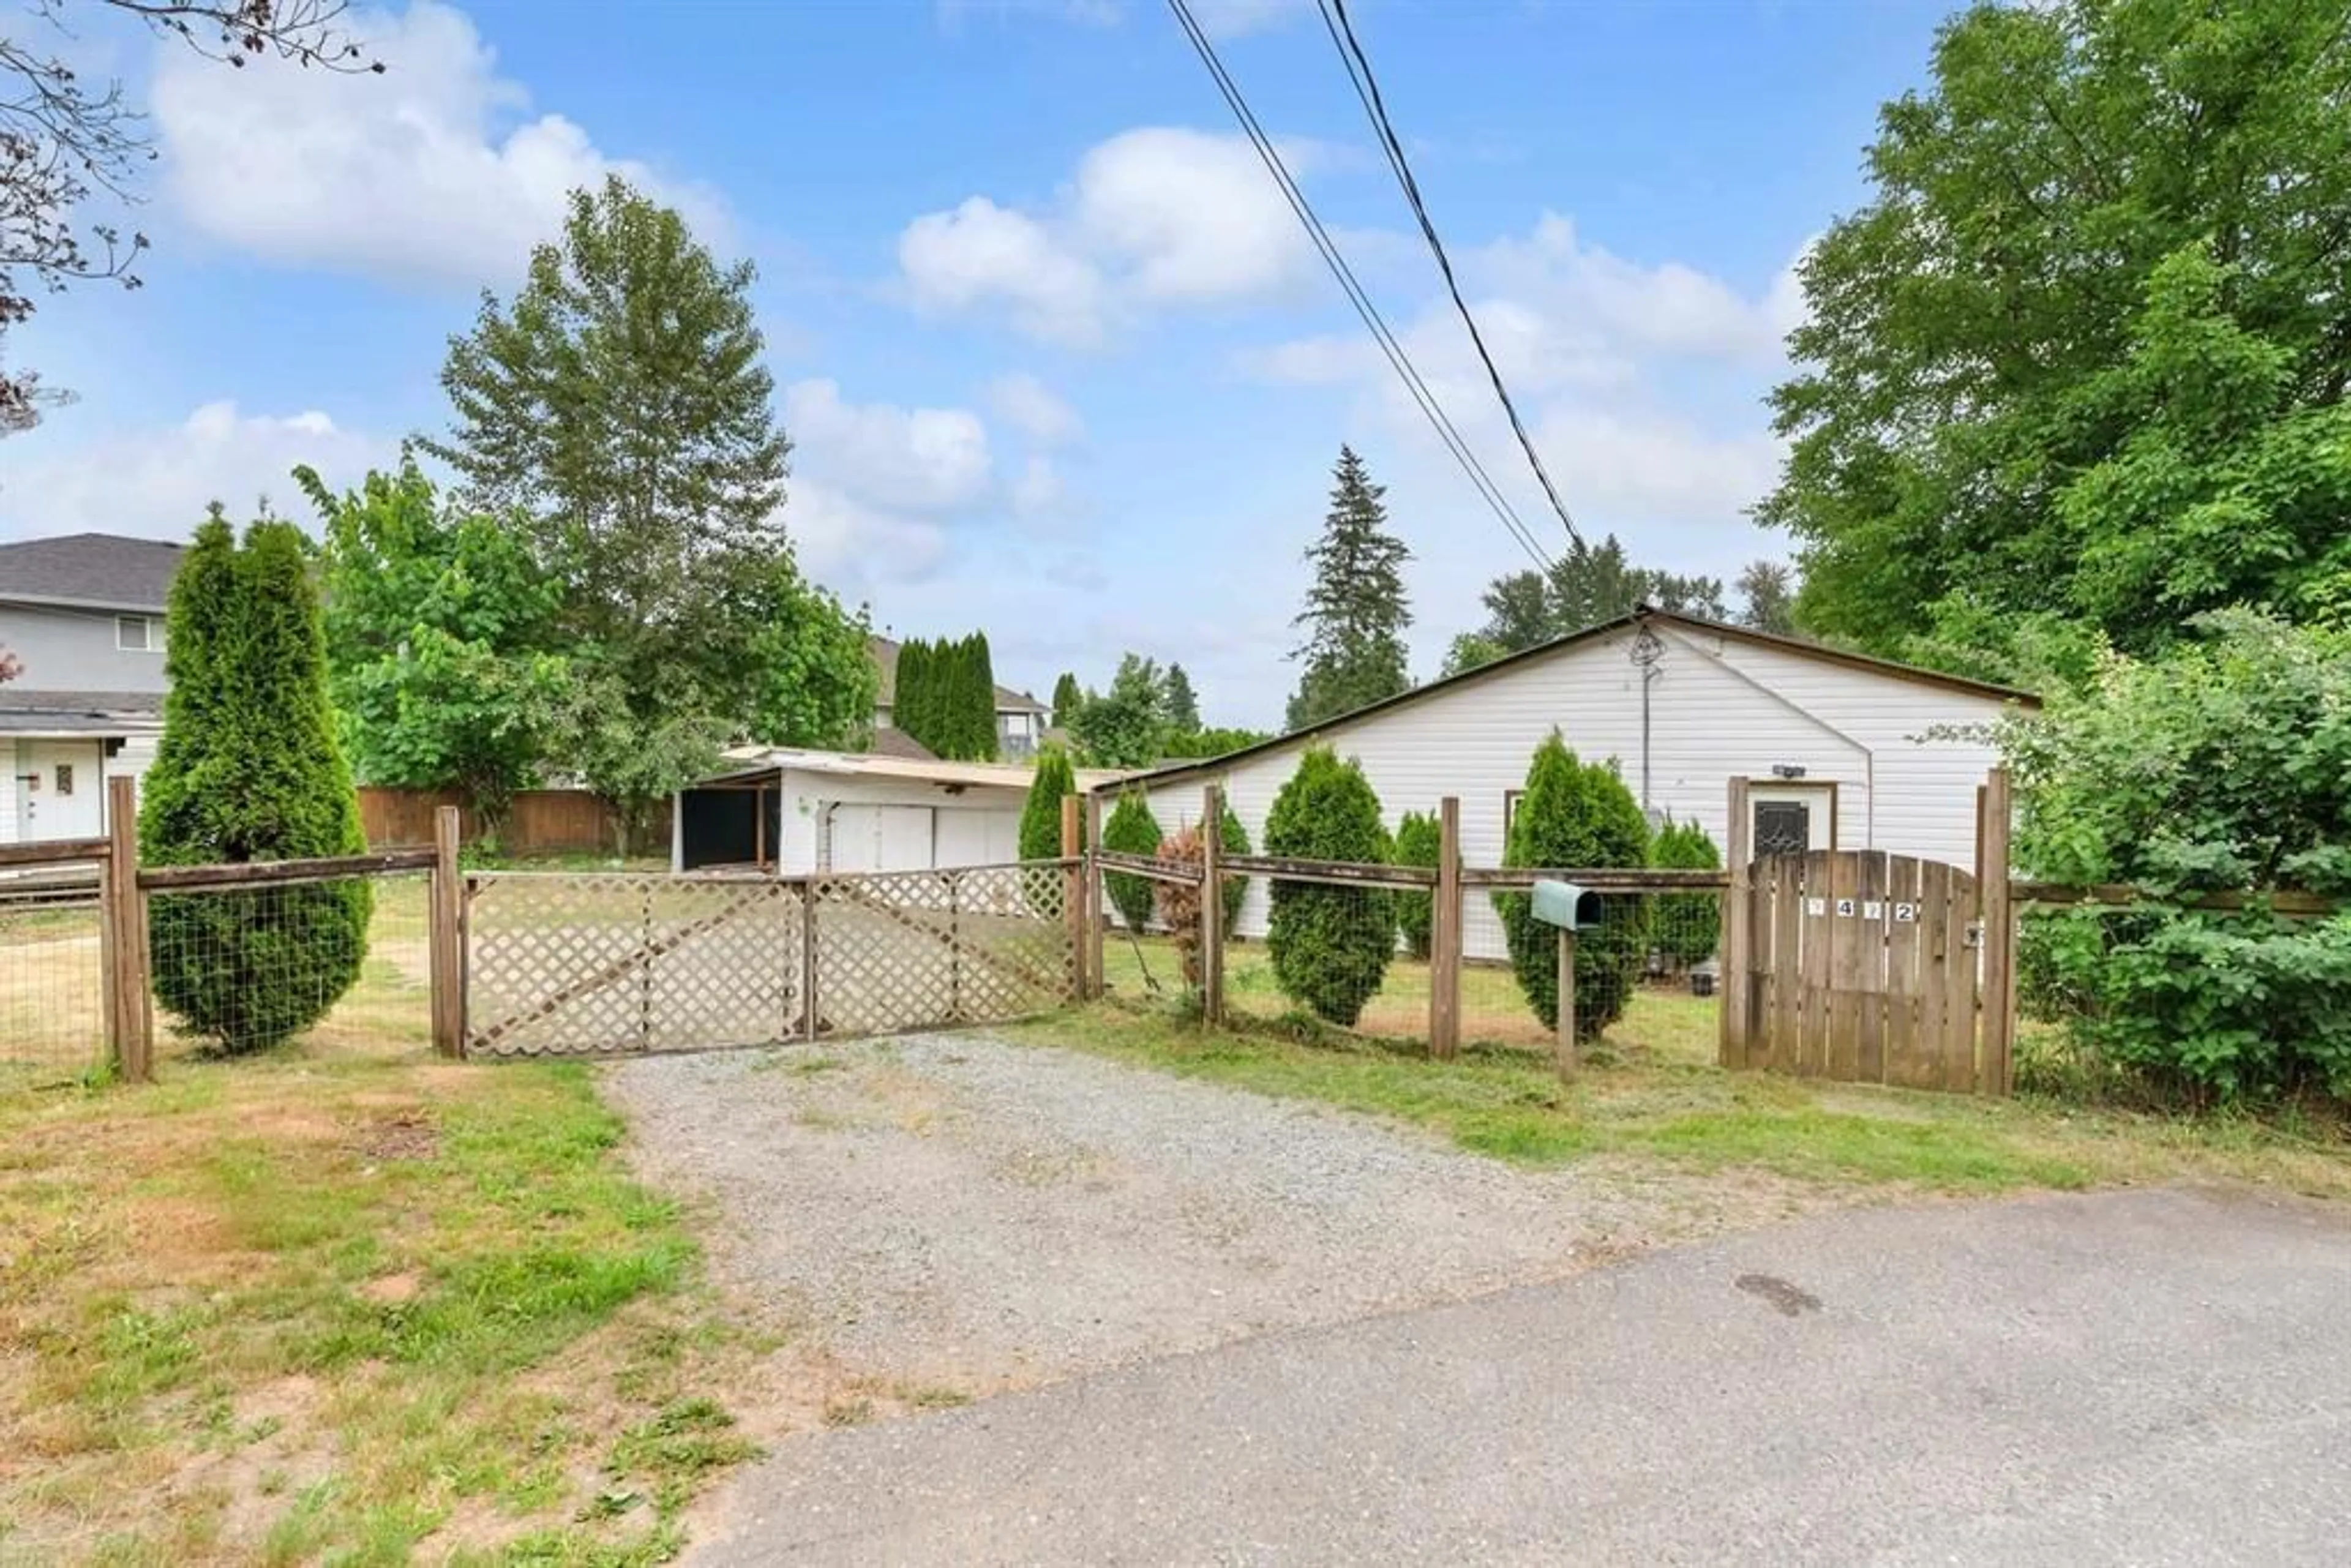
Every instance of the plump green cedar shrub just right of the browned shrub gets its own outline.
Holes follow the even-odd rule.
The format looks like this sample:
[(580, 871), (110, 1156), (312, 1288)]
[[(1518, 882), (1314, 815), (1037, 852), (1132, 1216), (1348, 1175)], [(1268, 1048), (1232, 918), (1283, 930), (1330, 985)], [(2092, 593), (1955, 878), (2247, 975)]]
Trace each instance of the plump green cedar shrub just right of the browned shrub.
[[(1265, 816), (1265, 853), (1291, 860), (1387, 860), (1380, 797), (1354, 762), (1307, 748)], [(1274, 983), (1319, 1018), (1354, 1025), (1396, 952), (1396, 914), (1378, 889), (1274, 882), (1265, 947)]]

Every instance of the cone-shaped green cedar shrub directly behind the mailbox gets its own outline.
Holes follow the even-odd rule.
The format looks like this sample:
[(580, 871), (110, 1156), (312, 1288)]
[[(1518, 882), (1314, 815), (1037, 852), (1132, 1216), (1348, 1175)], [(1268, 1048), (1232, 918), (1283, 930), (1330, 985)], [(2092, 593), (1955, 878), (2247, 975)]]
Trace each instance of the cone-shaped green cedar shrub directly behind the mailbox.
[[(1608, 764), (1582, 764), (1552, 731), (1526, 771), (1526, 792), (1509, 823), (1502, 865), (1601, 867), (1646, 865), (1648, 820)], [(1596, 1037), (1625, 1013), (1648, 952), (1641, 898), (1603, 898), (1606, 919), (1575, 933), (1575, 1032)], [(1559, 929), (1535, 919), (1526, 893), (1495, 893), (1519, 990), (1545, 1030), (1559, 1027)]]

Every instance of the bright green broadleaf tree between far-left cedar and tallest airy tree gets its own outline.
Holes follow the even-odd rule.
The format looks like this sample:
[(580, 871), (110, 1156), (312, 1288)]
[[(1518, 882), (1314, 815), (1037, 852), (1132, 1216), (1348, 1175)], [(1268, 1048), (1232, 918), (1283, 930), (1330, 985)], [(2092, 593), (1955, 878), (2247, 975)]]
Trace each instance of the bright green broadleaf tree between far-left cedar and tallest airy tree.
[(557, 585), (520, 531), (442, 508), (404, 461), (336, 496), (294, 470), (324, 524), (329, 691), (360, 783), (463, 790), (496, 830), (557, 729), (571, 665)]

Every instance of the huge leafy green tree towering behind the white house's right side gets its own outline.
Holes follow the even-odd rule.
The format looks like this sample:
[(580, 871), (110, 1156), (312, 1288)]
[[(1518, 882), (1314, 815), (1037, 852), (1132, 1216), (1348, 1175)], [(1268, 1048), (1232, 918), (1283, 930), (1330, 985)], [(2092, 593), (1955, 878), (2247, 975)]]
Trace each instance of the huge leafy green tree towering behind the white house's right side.
[(2156, 651), (2344, 564), (2346, 75), (2332, 2), (1944, 24), (1874, 197), (1803, 261), (1773, 393), (1759, 515), (1803, 545), (1808, 628), (2020, 675), (2064, 628)]

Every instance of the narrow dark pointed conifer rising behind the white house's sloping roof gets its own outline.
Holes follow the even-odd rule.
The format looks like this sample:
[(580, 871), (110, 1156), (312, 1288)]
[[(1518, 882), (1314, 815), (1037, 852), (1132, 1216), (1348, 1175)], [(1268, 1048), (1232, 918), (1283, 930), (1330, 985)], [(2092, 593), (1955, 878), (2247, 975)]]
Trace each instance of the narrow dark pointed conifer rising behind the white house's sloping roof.
[(1404, 630), (1413, 623), (1404, 562), (1413, 552), (1387, 531), (1387, 491), (1371, 482), (1354, 447), (1340, 447), (1331, 475), (1331, 512), (1307, 548), (1314, 576), (1295, 621), (1305, 642), (1293, 654), (1302, 668), (1288, 729), (1312, 729), (1413, 684), (1404, 663)]

